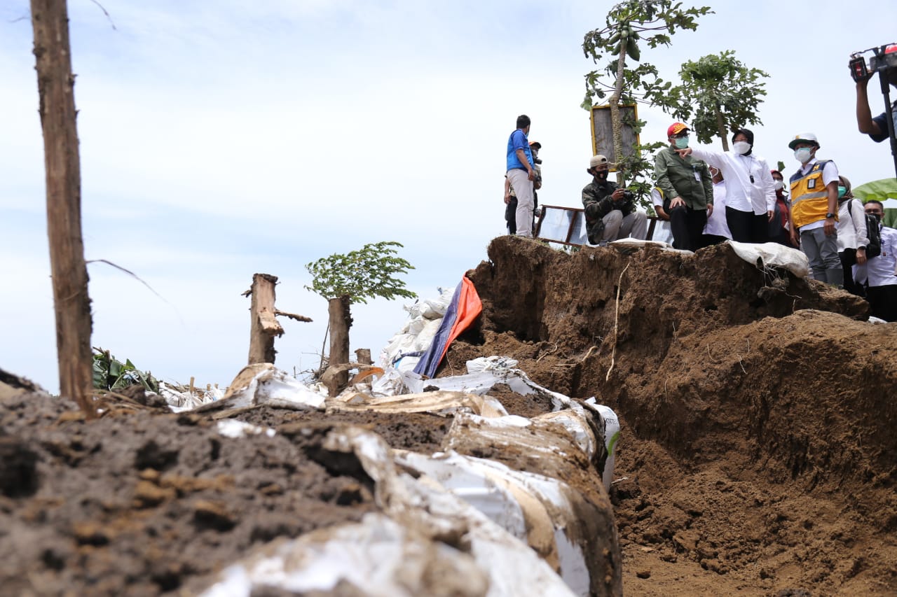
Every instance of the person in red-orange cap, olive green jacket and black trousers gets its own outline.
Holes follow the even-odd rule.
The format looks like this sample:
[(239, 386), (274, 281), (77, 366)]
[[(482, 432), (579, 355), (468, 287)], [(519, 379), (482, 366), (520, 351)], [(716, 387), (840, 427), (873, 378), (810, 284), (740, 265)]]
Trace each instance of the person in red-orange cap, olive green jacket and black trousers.
[(703, 246), (704, 226), (713, 212), (713, 181), (706, 162), (676, 152), (688, 147), (689, 130), (681, 122), (666, 129), (670, 144), (654, 159), (654, 180), (665, 197), (663, 210), (673, 229), (673, 247), (697, 251)]

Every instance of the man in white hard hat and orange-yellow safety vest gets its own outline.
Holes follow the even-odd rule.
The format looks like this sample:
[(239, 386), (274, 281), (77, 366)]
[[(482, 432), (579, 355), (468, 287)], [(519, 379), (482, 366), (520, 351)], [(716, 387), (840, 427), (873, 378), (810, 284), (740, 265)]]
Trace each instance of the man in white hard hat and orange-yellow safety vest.
[(844, 285), (838, 256), (838, 167), (817, 160), (819, 140), (813, 133), (796, 134), (788, 143), (800, 168), (791, 175), (791, 240), (806, 254), (815, 280)]

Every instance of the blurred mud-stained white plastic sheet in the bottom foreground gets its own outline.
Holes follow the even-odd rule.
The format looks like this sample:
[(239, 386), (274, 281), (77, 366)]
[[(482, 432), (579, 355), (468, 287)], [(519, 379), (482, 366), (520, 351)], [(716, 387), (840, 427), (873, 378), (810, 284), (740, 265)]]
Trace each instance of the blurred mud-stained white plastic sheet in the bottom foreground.
[[(205, 597), (248, 596), (263, 586), (296, 593), (333, 591), (341, 583), (377, 597), (588, 594), (588, 579), (585, 591), (581, 586), (572, 591), (536, 551), (431, 474), (399, 472), (388, 446), (370, 431), (335, 431), (327, 443), (328, 449), (359, 458), (375, 481), (384, 514), (257, 549), (226, 568)], [(413, 459), (422, 469), (429, 462)], [(403, 461), (407, 466), (414, 463)], [(553, 493), (553, 480), (547, 482), (541, 489), (546, 495)], [(551, 497), (553, 502), (560, 499)], [(455, 549), (446, 541), (449, 537), (464, 537), (469, 549)], [(564, 558), (574, 558), (566, 566), (573, 571), (575, 551), (562, 549)]]

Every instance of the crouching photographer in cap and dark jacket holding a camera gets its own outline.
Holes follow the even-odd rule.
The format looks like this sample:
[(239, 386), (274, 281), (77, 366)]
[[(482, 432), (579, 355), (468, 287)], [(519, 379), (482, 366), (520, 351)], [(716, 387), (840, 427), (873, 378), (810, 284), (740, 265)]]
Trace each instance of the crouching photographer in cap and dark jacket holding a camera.
[(588, 160), (592, 182), (582, 189), (582, 205), (586, 208), (586, 233), (592, 245), (606, 245), (618, 238), (648, 235), (648, 216), (635, 209), (635, 195), (617, 188), (607, 179), (610, 162), (603, 155)]

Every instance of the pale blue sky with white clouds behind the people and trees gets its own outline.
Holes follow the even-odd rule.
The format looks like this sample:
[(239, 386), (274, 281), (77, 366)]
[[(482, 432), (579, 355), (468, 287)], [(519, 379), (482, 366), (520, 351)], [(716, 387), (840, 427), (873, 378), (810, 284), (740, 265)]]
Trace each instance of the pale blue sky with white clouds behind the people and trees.
[[(0, 4), (0, 367), (57, 389), (42, 138), (27, 0)], [(91, 342), (163, 379), (227, 385), (245, 364), (252, 274), (279, 276), (277, 364), (317, 364), (327, 303), (304, 264), (396, 240), (422, 298), (454, 287), (503, 231), (504, 151), (520, 113), (543, 144), (544, 203), (588, 183), (579, 108), (583, 34), (602, 2), (69, 0)], [(724, 49), (770, 73), (755, 151), (820, 156), (856, 186), (893, 176), (856, 132), (849, 53), (897, 41), (897, 4), (708, 3), (716, 11), (642, 59), (679, 65)], [(749, 10), (745, 7), (749, 6)], [(875, 15), (871, 17), (870, 15)], [(115, 29), (112, 24), (114, 23)], [(796, 36), (806, 23), (809, 34)], [(881, 95), (870, 86), (873, 110)], [(672, 122), (640, 108), (643, 141)], [(376, 355), (403, 301), (353, 307), (353, 350)]]

